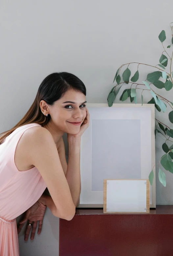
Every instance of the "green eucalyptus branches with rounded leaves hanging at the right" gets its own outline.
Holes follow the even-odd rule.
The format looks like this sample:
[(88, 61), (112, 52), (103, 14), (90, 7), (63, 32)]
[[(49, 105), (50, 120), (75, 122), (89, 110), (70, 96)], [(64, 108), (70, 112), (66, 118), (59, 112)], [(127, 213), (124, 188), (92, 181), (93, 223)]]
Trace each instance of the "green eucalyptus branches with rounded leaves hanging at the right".
[[(173, 45), (173, 26), (171, 25), (172, 23), (173, 22), (170, 23), (172, 37), (170, 40), (170, 45), (168, 45), (167, 48), (171, 48), (171, 46)], [(168, 52), (167, 52), (168, 50), (167, 51), (165, 50), (165, 47), (163, 45), (163, 42), (165, 41), (165, 39), (166, 39), (165, 31), (162, 30), (159, 35), (159, 40), (161, 41), (164, 51), (162, 52), (161, 57), (159, 59), (159, 64), (153, 66), (153, 65), (144, 64), (144, 63), (131, 62), (131, 63), (123, 64), (118, 68), (118, 70), (116, 71), (114, 80), (113, 80), (113, 83), (116, 81), (116, 85), (111, 89), (111, 91), (108, 95), (108, 98), (107, 98), (109, 107), (112, 106), (120, 88), (125, 83), (125, 84), (130, 85), (130, 88), (125, 89), (123, 91), (122, 95), (120, 96), (121, 101), (125, 101), (128, 97), (130, 97), (130, 101), (131, 102), (134, 101), (136, 104), (137, 103), (136, 90), (142, 90), (142, 92), (143, 92), (143, 90), (148, 90), (152, 96), (151, 100), (148, 103), (155, 104), (155, 108), (158, 112), (161, 112), (161, 111), (165, 112), (166, 107), (168, 106), (171, 109), (171, 111), (169, 112), (169, 115), (168, 115), (169, 121), (171, 123), (173, 123), (173, 103), (170, 100), (163, 98), (160, 94), (156, 93), (153, 89), (153, 86), (152, 86), (152, 88), (150, 87), (150, 85), (152, 84), (152, 85), (154, 85), (154, 87), (156, 87), (158, 89), (164, 88), (166, 91), (171, 90), (173, 87), (173, 71), (171, 70), (173, 51), (171, 54), (170, 53), (168, 54)], [(170, 60), (170, 61), (168, 61), (168, 60)], [(137, 71), (131, 77), (131, 71), (129, 69), (129, 65), (134, 64), (134, 63), (138, 64)], [(168, 63), (169, 63), (169, 65), (168, 65)], [(124, 70), (124, 72), (122, 74), (120, 74), (121, 68), (125, 65), (127, 65), (127, 68)], [(139, 71), (138, 71), (139, 65), (147, 65), (147, 66), (152, 67), (152, 72), (147, 74), (147, 78), (145, 79), (145, 81), (142, 81), (142, 84), (140, 82), (138, 82), (139, 81)], [(154, 68), (156, 71), (154, 71)], [(131, 79), (130, 79), (130, 77), (131, 77)], [(160, 78), (163, 81), (161, 81)], [(132, 85), (135, 85), (135, 88), (132, 88)], [(138, 88), (138, 85), (143, 85), (145, 89)], [(141, 102), (143, 105), (142, 92), (141, 92)], [(169, 94), (169, 96), (170, 96), (170, 94)], [(161, 133), (166, 139), (165, 142), (162, 144), (162, 149), (164, 151), (164, 155), (161, 157), (159, 163), (161, 163), (161, 165), (163, 166), (163, 168), (165, 170), (173, 173), (173, 161), (172, 161), (173, 160), (173, 144), (172, 144), (173, 139), (171, 139), (171, 138), (173, 138), (173, 129), (171, 129), (166, 124), (159, 121), (157, 118), (155, 118), (155, 120), (156, 120), (155, 138), (156, 138), (157, 133)], [(170, 143), (172, 145), (170, 145)], [(153, 184), (153, 178), (154, 178), (153, 168), (154, 168), (154, 166), (152, 167), (152, 170), (149, 175), (149, 181), (150, 181), (151, 185)], [(166, 177), (165, 177), (165, 173), (160, 168), (160, 164), (159, 164), (159, 180), (160, 180), (161, 184), (165, 187), (166, 186)]]

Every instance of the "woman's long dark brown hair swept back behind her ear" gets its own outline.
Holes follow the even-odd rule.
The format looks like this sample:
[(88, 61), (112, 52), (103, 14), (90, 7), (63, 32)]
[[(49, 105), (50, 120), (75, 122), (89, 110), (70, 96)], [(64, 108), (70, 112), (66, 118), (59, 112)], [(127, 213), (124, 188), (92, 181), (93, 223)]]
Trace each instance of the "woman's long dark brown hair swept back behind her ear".
[[(41, 112), (40, 101), (45, 100), (47, 104), (52, 106), (54, 102), (63, 97), (64, 93), (69, 89), (81, 91), (86, 96), (86, 87), (77, 76), (68, 72), (54, 72), (46, 76), (41, 82), (36, 98), (28, 112), (12, 129), (0, 133), (0, 144), (16, 128), (22, 125), (30, 123), (47, 124), (50, 120), (50, 115), (46, 117)], [(3, 135), (1, 136), (1, 134)]]

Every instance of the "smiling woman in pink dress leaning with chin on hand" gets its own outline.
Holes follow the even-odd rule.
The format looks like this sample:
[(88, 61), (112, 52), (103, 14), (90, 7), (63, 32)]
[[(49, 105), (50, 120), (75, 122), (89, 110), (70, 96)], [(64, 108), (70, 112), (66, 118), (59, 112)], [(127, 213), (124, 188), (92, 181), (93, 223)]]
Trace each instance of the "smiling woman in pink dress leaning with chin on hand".
[[(80, 141), (89, 126), (86, 87), (75, 75), (52, 73), (40, 84), (26, 115), (0, 134), (0, 256), (18, 256), (16, 217), (26, 211), (25, 240), (41, 230), (46, 206), (71, 220), (79, 202)], [(68, 166), (62, 135), (67, 133)], [(3, 135), (2, 135), (3, 134)], [(50, 195), (44, 195), (45, 189)]]

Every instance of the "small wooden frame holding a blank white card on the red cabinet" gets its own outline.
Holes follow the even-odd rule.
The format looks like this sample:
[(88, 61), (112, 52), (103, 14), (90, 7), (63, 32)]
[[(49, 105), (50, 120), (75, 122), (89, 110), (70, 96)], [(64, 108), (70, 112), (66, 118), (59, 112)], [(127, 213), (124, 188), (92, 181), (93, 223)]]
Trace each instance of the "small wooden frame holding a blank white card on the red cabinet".
[(104, 213), (149, 213), (148, 179), (104, 179)]

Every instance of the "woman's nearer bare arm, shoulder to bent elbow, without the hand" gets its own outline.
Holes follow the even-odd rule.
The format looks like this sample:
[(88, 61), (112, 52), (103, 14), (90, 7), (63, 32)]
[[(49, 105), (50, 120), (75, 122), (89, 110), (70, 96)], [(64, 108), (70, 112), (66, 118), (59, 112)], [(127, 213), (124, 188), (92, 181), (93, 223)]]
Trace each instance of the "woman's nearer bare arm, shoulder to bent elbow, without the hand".
[(31, 134), (29, 147), (30, 162), (37, 167), (51, 195), (43, 196), (44, 203), (56, 217), (72, 219), (76, 209), (52, 135), (47, 129), (37, 129)]

